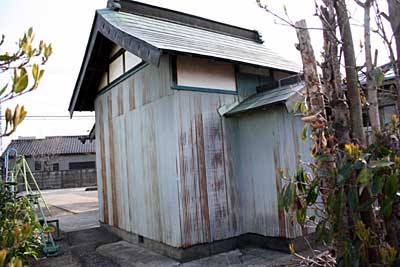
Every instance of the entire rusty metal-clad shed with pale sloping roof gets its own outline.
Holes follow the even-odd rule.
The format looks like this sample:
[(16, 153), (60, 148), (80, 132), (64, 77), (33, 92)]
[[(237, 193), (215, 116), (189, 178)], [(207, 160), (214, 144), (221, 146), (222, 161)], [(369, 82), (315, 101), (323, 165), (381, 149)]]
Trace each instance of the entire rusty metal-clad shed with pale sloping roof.
[(291, 113), (300, 67), (256, 31), (111, 6), (96, 11), (69, 107), (96, 113), (100, 221), (182, 260), (242, 242), (287, 250), (302, 232), (278, 207), (279, 170), (309, 159)]

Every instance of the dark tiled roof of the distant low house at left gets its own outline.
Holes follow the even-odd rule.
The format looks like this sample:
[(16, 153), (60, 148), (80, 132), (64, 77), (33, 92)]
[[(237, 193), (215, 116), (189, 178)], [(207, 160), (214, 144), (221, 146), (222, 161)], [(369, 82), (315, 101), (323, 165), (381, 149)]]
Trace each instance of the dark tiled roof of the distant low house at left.
[[(87, 140), (83, 144), (80, 137), (83, 136), (49, 136), (43, 139), (16, 139), (11, 141), (7, 149), (13, 147), (18, 151), (18, 154), (25, 156), (95, 153), (95, 143)], [(7, 149), (3, 152), (2, 157), (4, 157)]]

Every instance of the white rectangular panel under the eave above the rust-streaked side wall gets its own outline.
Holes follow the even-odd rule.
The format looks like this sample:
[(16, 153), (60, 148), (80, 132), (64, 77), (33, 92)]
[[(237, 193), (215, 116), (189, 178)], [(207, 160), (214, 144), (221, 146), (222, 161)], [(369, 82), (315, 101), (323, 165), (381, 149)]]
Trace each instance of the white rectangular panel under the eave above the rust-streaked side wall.
[(178, 56), (176, 65), (178, 85), (236, 91), (235, 69), (231, 63)]

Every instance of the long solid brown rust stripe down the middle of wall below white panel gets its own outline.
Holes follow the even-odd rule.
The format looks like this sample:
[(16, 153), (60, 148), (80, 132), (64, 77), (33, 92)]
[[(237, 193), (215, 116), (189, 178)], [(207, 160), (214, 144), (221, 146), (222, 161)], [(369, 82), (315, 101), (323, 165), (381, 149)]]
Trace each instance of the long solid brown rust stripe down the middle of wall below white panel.
[(203, 219), (203, 235), (205, 241), (211, 241), (210, 218), (208, 210), (208, 191), (207, 191), (207, 175), (206, 175), (206, 158), (204, 153), (204, 132), (203, 132), (203, 115), (201, 113), (195, 118), (195, 131), (197, 143), (197, 165), (199, 175), (200, 189), (200, 207)]

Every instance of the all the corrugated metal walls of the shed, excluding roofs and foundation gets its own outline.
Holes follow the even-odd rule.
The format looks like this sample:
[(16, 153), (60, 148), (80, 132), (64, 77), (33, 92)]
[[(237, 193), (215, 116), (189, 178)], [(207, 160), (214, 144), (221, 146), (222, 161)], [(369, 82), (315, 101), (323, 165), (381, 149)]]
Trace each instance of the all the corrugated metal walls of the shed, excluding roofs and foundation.
[(277, 170), (292, 173), (306, 149), (300, 120), (283, 106), (223, 118), (237, 96), (171, 85), (163, 57), (96, 99), (100, 219), (175, 247), (296, 236), (278, 211)]

